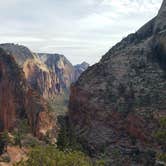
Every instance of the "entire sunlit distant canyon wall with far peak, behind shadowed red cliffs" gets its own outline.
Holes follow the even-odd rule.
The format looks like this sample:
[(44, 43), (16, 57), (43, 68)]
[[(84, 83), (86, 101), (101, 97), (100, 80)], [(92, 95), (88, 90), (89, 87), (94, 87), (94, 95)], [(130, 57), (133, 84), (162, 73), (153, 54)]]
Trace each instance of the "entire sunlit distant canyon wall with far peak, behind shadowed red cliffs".
[(59, 54), (32, 53), (25, 46), (10, 43), (0, 44), (0, 48), (13, 55), (23, 69), (28, 85), (46, 100), (68, 94), (71, 83), (87, 69), (85, 63), (80, 66), (82, 68), (74, 68)]

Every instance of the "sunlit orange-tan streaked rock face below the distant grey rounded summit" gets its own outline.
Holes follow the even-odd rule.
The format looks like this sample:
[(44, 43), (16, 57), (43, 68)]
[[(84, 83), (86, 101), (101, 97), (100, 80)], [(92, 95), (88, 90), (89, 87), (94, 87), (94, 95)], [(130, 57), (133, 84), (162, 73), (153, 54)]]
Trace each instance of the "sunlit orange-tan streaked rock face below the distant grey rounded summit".
[(45, 99), (54, 98), (62, 93), (59, 79), (40, 60), (28, 60), (23, 66), (29, 86)]

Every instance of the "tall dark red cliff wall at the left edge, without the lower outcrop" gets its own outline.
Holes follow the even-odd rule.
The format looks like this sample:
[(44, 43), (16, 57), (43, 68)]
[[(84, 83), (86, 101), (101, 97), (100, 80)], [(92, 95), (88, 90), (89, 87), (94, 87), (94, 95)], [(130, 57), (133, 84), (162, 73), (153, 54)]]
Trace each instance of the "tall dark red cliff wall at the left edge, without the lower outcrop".
[(13, 57), (0, 49), (0, 130), (12, 129), (25, 117), (25, 80)]

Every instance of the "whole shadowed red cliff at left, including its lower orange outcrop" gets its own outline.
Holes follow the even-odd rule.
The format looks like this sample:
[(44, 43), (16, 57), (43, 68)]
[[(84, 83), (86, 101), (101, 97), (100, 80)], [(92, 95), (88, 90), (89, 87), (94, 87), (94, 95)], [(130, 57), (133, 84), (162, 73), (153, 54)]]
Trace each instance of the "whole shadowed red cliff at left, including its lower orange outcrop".
[(47, 131), (56, 135), (56, 119), (47, 108), (46, 101), (28, 87), (13, 56), (0, 49), (0, 131), (12, 130), (26, 118), (38, 138)]

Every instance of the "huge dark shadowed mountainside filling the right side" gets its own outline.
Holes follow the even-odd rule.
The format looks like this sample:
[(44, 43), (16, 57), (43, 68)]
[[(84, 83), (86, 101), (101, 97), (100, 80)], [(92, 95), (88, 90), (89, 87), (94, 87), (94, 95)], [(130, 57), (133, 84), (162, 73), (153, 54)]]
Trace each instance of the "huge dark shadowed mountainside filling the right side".
[[(157, 17), (130, 34), (71, 87), (69, 118), (92, 155), (155, 146), (166, 112), (166, 1)], [(133, 139), (135, 140), (133, 143)]]

